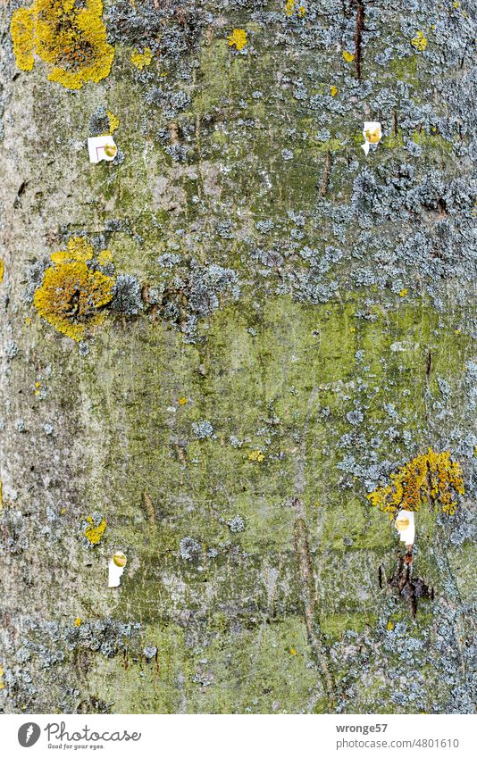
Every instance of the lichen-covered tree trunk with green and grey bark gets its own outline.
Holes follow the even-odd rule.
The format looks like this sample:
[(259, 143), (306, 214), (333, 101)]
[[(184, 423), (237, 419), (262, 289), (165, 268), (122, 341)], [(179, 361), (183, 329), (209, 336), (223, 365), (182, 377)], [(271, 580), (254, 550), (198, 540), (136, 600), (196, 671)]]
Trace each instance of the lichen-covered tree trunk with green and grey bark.
[(3, 5), (0, 711), (473, 710), (471, 5)]

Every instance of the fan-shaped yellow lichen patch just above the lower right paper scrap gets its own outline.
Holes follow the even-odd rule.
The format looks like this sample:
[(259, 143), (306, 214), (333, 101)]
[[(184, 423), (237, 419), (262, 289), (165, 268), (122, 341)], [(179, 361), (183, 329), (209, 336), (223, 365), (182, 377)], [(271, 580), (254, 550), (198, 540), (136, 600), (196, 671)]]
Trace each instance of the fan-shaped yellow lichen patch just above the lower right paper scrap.
[(435, 453), (431, 447), (390, 475), (390, 484), (377, 487), (368, 500), (393, 519), (400, 510), (419, 511), (423, 504), (437, 504), (442, 511), (456, 512), (454, 492), (464, 495), (460, 464), (451, 461), (450, 453)]

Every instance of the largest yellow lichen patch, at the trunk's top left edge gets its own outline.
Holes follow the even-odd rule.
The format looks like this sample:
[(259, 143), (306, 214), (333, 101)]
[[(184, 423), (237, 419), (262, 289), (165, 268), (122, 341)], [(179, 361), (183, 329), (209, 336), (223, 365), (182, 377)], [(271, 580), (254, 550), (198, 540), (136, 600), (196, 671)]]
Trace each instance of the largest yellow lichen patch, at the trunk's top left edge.
[(21, 71), (31, 71), (34, 55), (50, 67), (48, 79), (69, 89), (98, 82), (111, 71), (114, 48), (106, 41), (102, 0), (35, 0), (13, 13), (13, 52)]

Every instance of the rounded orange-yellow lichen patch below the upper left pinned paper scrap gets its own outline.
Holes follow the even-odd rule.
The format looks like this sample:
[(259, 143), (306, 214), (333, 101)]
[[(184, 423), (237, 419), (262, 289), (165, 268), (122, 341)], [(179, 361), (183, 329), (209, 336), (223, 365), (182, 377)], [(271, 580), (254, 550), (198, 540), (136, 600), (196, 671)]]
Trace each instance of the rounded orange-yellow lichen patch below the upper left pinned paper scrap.
[(77, 341), (105, 320), (104, 307), (113, 299), (114, 279), (89, 268), (86, 262), (92, 257), (88, 242), (72, 237), (67, 250), (51, 256), (54, 265), (46, 269), (33, 298), (40, 316)]

